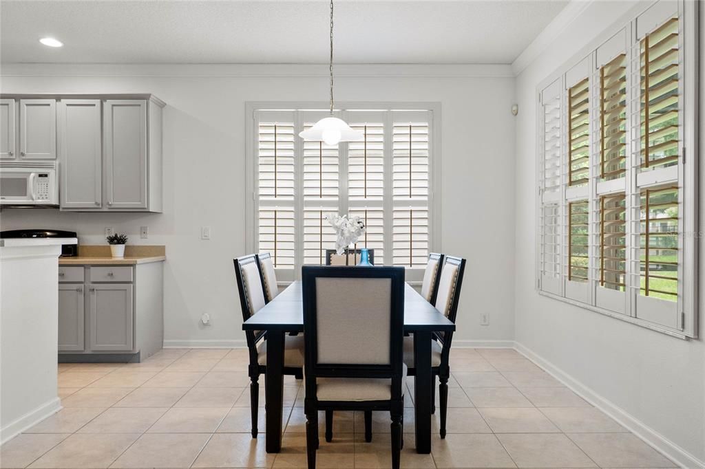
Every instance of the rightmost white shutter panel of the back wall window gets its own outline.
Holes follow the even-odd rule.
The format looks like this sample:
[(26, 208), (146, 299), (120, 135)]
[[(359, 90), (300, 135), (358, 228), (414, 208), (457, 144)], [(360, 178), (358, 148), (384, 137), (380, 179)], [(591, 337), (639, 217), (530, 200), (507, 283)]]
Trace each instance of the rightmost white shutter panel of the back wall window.
[(395, 111), (392, 125), (393, 264), (429, 256), (429, 114)]

